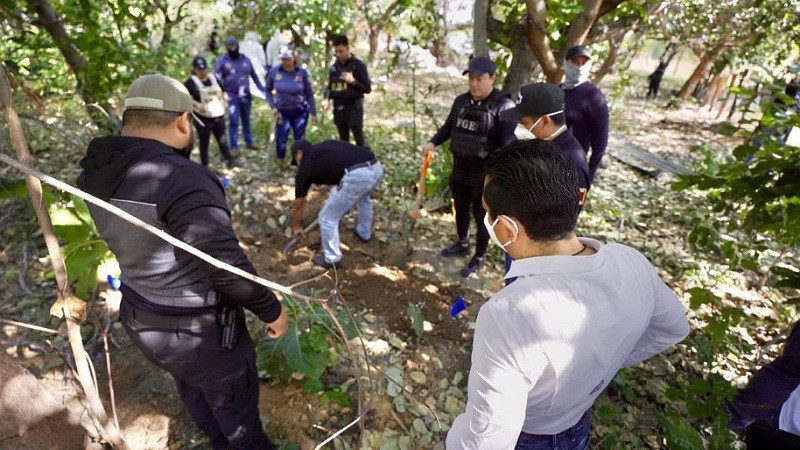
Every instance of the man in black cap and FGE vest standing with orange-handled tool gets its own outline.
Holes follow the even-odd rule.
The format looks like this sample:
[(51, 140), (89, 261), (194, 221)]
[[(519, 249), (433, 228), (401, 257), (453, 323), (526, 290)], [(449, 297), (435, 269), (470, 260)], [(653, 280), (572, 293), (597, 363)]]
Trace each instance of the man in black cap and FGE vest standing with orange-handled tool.
[(465, 278), (483, 267), (483, 256), (489, 246), (489, 232), (483, 226), (486, 212), (481, 204), (484, 161), (489, 153), (514, 140), (517, 126), (500, 120), (500, 112), (514, 107), (514, 102), (494, 87), (496, 72), (497, 66), (489, 58), (475, 58), (470, 62), (464, 71), (464, 75), (469, 74), (469, 92), (456, 97), (447, 121), (422, 148), (425, 153), (433, 153), (437, 145), (450, 139), (453, 153), (450, 190), (453, 191), (456, 209), (458, 240), (442, 250), (442, 255), (469, 254), (469, 214), (472, 210), (478, 233), (475, 255), (461, 269), (461, 276)]

